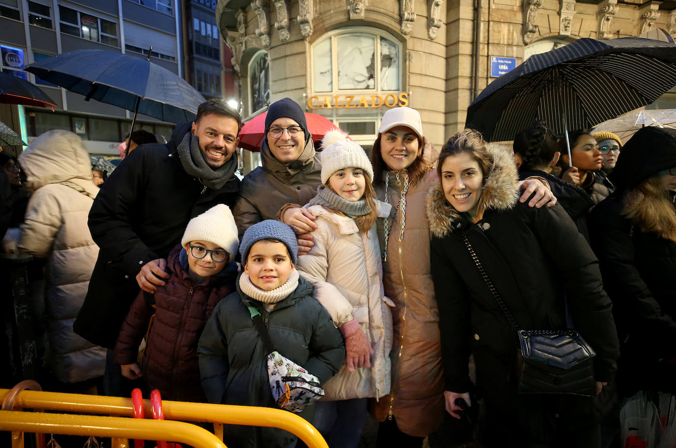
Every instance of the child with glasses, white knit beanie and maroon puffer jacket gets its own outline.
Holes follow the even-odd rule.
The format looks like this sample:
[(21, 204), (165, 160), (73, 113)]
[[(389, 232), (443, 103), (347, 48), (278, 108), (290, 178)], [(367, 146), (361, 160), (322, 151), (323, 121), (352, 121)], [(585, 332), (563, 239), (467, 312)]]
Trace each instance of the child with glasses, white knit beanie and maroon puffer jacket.
[(141, 291), (124, 319), (115, 346), (122, 375), (145, 378), (163, 399), (206, 402), (199, 384), (197, 341), (216, 304), (235, 291), (238, 246), (228, 206), (219, 204), (191, 219), (180, 246), (169, 253), (166, 285), (153, 294)]

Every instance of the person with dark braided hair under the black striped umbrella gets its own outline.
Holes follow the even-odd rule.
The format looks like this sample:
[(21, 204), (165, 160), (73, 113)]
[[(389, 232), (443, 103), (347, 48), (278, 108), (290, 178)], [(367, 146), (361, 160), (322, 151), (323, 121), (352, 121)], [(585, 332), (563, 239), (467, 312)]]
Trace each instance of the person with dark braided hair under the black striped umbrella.
[(544, 121), (533, 122), (528, 129), (524, 129), (514, 137), (514, 159), (518, 166), (518, 178), (544, 177), (558, 203), (589, 241), (587, 212), (594, 206), (594, 202), (578, 185), (558, 179), (549, 173), (550, 166), (555, 165), (560, 156), (556, 135)]

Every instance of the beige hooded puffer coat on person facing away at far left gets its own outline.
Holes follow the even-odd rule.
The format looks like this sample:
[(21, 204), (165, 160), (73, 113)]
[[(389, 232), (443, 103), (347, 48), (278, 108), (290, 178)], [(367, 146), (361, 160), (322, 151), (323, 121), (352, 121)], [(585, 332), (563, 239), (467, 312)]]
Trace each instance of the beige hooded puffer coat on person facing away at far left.
[(52, 373), (74, 383), (103, 375), (105, 349), (76, 335), (73, 321), (82, 306), (99, 248), (87, 215), (99, 187), (80, 137), (49, 131), (28, 146), (19, 161), (34, 190), (21, 225), (19, 250), (47, 256), (45, 309)]

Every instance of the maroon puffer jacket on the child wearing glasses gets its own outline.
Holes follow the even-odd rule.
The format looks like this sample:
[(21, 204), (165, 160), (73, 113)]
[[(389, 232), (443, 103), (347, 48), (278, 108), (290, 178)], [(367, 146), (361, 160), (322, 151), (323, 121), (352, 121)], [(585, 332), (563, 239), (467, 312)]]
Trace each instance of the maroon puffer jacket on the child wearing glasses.
[(115, 346), (115, 363), (135, 363), (139, 344), (147, 344), (141, 370), (151, 389), (158, 388), (163, 399), (206, 402), (199, 381), (197, 341), (216, 304), (235, 291), (236, 265), (226, 266), (201, 284), (189, 277), (180, 261), (183, 248), (171, 250), (167, 267), (171, 277), (154, 294), (153, 309), (139, 293), (124, 319)]

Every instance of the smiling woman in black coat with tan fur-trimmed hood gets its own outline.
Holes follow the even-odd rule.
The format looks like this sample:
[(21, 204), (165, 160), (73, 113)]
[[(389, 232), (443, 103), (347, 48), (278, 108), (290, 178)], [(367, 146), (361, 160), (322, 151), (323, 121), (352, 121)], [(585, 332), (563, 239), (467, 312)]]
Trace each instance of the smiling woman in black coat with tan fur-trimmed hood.
[(597, 354), (598, 393), (614, 378), (619, 344), (594, 253), (560, 206), (517, 202), (510, 154), (488, 150), (476, 131), (458, 132), (443, 145), (437, 173), (441, 182), (430, 189), (427, 217), (446, 410), (459, 418), (454, 401), (469, 401), (472, 353), (487, 409), (487, 447), (598, 447), (591, 397), (516, 393), (515, 330), (464, 238), (520, 328), (566, 328), (567, 297), (575, 328)]

